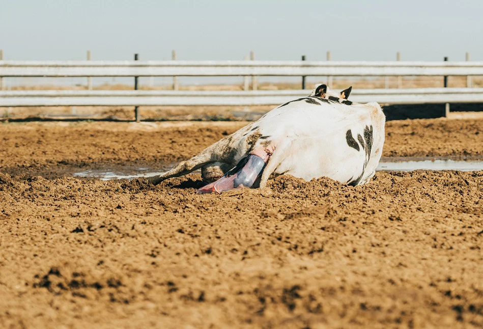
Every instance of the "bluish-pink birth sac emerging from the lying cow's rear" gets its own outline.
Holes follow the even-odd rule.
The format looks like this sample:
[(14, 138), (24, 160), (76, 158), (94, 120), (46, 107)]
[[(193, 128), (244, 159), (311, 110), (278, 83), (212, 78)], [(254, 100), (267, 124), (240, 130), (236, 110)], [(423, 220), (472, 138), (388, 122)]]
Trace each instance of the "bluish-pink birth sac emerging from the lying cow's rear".
[(198, 194), (221, 193), (235, 188), (251, 187), (263, 172), (274, 149), (274, 146), (254, 149), (223, 177), (198, 189)]

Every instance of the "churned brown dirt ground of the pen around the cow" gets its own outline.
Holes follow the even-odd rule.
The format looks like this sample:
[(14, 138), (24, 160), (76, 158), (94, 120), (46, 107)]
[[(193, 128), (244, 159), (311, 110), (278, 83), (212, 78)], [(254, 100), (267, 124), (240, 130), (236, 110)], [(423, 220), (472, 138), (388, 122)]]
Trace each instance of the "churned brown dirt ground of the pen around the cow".
[[(71, 177), (161, 170), (244, 124), (0, 124), (0, 327), (483, 326), (483, 171), (221, 196)], [(483, 120), (386, 134), (384, 157), (483, 158)]]

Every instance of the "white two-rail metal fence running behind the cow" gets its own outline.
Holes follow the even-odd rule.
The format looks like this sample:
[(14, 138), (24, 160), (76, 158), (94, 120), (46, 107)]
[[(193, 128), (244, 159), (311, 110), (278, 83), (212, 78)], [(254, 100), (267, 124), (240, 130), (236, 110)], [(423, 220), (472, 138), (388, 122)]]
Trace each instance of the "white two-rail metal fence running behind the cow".
[[(136, 57), (137, 58), (137, 57)], [(483, 62), (337, 61), (2, 61), (4, 77), (132, 76), (467, 76), (483, 75)], [(90, 81), (90, 80), (88, 80)], [(136, 83), (137, 86), (137, 83)], [(445, 83), (446, 86), (446, 83)], [(329, 86), (330, 87), (330, 86)], [(137, 88), (136, 88), (137, 89)], [(268, 105), (306, 96), (283, 91), (0, 91), (0, 106)], [(389, 104), (483, 102), (483, 89), (354, 90), (351, 100)], [(136, 107), (136, 120), (139, 114)]]

